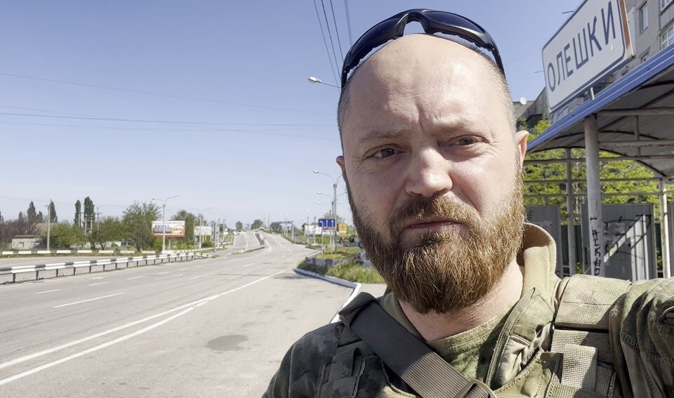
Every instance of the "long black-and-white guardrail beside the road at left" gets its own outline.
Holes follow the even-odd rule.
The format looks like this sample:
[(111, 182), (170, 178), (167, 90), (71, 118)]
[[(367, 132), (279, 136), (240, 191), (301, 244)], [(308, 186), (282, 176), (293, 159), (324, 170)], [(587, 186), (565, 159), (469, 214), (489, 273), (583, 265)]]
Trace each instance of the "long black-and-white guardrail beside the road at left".
[[(171, 263), (176, 261), (188, 261), (194, 260), (194, 258), (209, 258), (211, 256), (207, 254), (197, 253), (195, 251), (183, 252), (183, 253), (174, 253), (174, 254), (158, 254), (153, 256), (136, 256), (136, 257), (125, 257), (125, 258), (106, 258), (104, 260), (87, 260), (87, 261), (73, 261), (71, 263), (52, 263), (52, 264), (40, 264), (40, 265), (15, 265), (13, 267), (4, 267), (0, 268), (0, 276), (11, 275), (11, 283), (16, 283), (16, 276), (18, 274), (30, 274), (35, 273), (35, 280), (40, 279), (41, 272), (55, 272), (55, 277), (59, 276), (68, 276), (78, 274), (77, 270), (84, 270), (88, 267), (88, 272), (91, 273), (93, 267), (102, 267), (99, 271), (107, 271), (106, 266), (112, 267), (118, 270), (119, 265), (124, 265), (122, 268), (128, 267), (141, 267), (143, 265), (156, 265), (163, 263)], [(173, 260), (173, 261), (172, 261)], [(141, 264), (143, 263), (143, 264)], [(70, 273), (72, 270), (72, 274)], [(61, 272), (61, 274), (59, 274)], [(67, 272), (67, 274), (66, 274)], [(79, 272), (84, 273), (84, 272)], [(43, 276), (44, 277), (44, 276)], [(25, 279), (28, 280), (28, 279)], [(8, 281), (1, 283), (9, 283)]]

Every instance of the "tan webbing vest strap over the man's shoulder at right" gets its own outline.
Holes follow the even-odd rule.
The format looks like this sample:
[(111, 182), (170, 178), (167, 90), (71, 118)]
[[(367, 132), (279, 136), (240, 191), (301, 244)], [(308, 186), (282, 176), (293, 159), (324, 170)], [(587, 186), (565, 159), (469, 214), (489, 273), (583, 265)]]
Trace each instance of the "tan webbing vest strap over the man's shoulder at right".
[(560, 391), (571, 388), (602, 396), (613, 394), (616, 375), (612, 371), (609, 317), (629, 287), (629, 281), (581, 274), (560, 284), (550, 347), (562, 353)]

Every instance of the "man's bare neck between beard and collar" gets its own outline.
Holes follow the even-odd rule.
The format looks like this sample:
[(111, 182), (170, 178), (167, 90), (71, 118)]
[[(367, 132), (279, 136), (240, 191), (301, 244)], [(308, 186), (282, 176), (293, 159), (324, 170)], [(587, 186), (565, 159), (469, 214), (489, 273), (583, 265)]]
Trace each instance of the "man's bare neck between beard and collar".
[(419, 314), (399, 301), (400, 307), (426, 341), (438, 340), (473, 329), (496, 314), (513, 307), (522, 296), (523, 270), (513, 260), (489, 294), (470, 307), (443, 314)]

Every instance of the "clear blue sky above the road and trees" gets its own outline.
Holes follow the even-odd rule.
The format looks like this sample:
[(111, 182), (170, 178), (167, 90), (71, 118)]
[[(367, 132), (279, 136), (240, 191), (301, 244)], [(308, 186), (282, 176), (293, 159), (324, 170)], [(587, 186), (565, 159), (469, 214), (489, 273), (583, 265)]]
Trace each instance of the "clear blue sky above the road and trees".
[[(541, 48), (570, 15), (562, 13), (580, 3), (351, 0), (348, 7), (353, 40), (409, 8), (475, 20), (498, 44), (513, 98), (533, 100), (544, 85), (536, 73)], [(341, 58), (334, 20), (346, 53), (345, 1), (323, 4)], [(167, 218), (179, 208), (209, 208), (207, 218), (230, 226), (267, 215), (302, 223), (329, 209), (331, 199), (317, 192), (331, 194), (332, 180), (312, 171), (340, 173), (338, 90), (307, 80), (336, 83), (312, 0), (9, 1), (0, 48), (6, 220), (29, 200), (46, 214), (50, 198), (59, 218), (72, 220), (74, 202), (86, 196), (101, 215), (121, 215), (133, 200), (180, 194)], [(345, 195), (338, 201), (347, 215)]]

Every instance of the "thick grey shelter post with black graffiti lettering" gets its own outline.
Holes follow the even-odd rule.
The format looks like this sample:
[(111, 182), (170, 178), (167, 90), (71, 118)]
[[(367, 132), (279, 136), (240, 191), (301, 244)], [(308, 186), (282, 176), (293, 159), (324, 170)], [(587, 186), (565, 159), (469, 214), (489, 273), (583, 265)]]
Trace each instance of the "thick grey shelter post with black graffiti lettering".
[(599, 164), (599, 126), (597, 117), (585, 119), (586, 177), (588, 180), (588, 225), (590, 226), (590, 267), (592, 274), (606, 275), (604, 269), (604, 220)]

